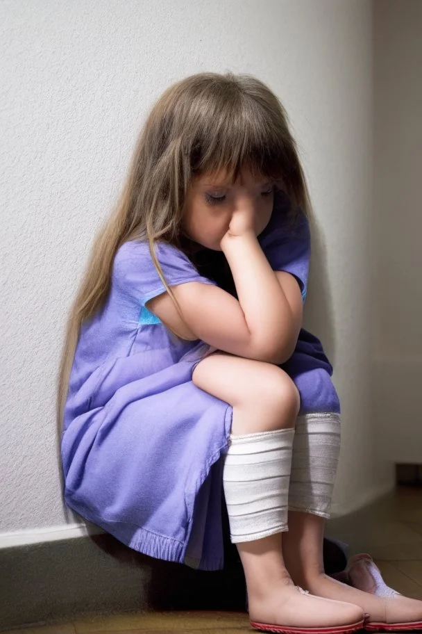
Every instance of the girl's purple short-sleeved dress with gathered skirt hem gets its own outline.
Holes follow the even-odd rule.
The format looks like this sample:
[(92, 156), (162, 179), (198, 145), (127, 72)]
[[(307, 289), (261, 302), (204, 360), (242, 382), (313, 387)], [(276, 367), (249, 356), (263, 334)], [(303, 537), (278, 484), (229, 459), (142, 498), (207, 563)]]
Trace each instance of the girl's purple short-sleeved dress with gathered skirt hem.
[[(285, 222), (274, 204), (259, 240), (274, 270), (306, 294), (310, 234), (306, 218)], [(156, 253), (168, 284), (217, 284), (176, 247)], [(192, 382), (214, 350), (181, 341), (146, 309), (165, 287), (149, 247), (122, 245), (108, 299), (84, 323), (71, 369), (61, 437), (65, 501), (119, 541), (151, 557), (203, 570), (223, 567), (223, 457), (233, 409)], [(282, 366), (301, 393), (301, 413), (339, 412), (332, 368), (304, 330)]]

